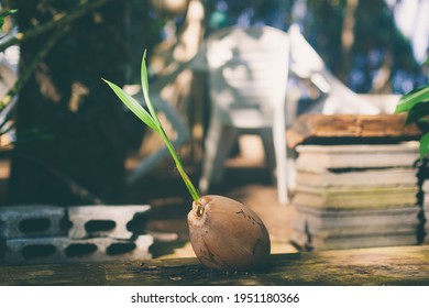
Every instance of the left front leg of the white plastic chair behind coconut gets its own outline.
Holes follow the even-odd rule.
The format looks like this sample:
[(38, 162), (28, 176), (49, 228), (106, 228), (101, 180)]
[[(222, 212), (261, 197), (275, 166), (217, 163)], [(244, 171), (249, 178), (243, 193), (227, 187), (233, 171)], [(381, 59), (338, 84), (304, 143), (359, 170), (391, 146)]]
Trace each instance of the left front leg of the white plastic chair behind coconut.
[(223, 162), (228, 158), (238, 130), (223, 125), (211, 119), (210, 129), (205, 141), (202, 174), (199, 180), (200, 194), (206, 195), (210, 186), (220, 183), (223, 177)]

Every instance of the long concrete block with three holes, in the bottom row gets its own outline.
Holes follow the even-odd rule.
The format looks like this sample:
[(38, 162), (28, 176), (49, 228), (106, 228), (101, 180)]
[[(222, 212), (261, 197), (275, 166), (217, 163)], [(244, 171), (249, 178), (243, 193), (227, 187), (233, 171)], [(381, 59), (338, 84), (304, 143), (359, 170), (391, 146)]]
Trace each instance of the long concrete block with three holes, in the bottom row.
[(151, 235), (140, 235), (136, 240), (111, 238), (69, 239), (29, 238), (7, 240), (3, 263), (47, 264), (65, 262), (103, 262), (113, 260), (147, 260), (153, 243)]

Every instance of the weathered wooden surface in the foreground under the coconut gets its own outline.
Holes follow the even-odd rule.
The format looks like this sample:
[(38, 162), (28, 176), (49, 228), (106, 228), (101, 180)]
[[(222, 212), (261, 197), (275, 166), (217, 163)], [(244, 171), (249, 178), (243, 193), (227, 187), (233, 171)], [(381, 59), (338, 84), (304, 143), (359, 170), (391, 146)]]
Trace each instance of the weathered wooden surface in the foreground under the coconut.
[(222, 273), (196, 258), (0, 266), (0, 285), (426, 285), (429, 245), (274, 254), (263, 272)]

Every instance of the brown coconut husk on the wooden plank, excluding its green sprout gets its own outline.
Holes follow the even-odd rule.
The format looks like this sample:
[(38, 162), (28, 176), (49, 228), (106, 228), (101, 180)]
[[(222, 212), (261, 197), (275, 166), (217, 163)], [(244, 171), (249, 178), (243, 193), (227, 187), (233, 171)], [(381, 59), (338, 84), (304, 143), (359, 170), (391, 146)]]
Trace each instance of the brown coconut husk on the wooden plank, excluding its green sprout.
[(190, 242), (199, 261), (221, 271), (270, 265), (270, 234), (246, 206), (221, 196), (205, 196), (188, 213)]

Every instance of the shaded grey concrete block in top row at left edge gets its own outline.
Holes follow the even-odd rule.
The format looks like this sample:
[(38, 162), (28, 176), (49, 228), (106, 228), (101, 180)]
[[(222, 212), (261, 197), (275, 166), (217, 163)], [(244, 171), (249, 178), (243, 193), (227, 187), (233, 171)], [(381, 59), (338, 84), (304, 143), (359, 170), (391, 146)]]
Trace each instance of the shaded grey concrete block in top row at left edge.
[(51, 205), (0, 207), (0, 237), (6, 239), (67, 234), (66, 210)]

